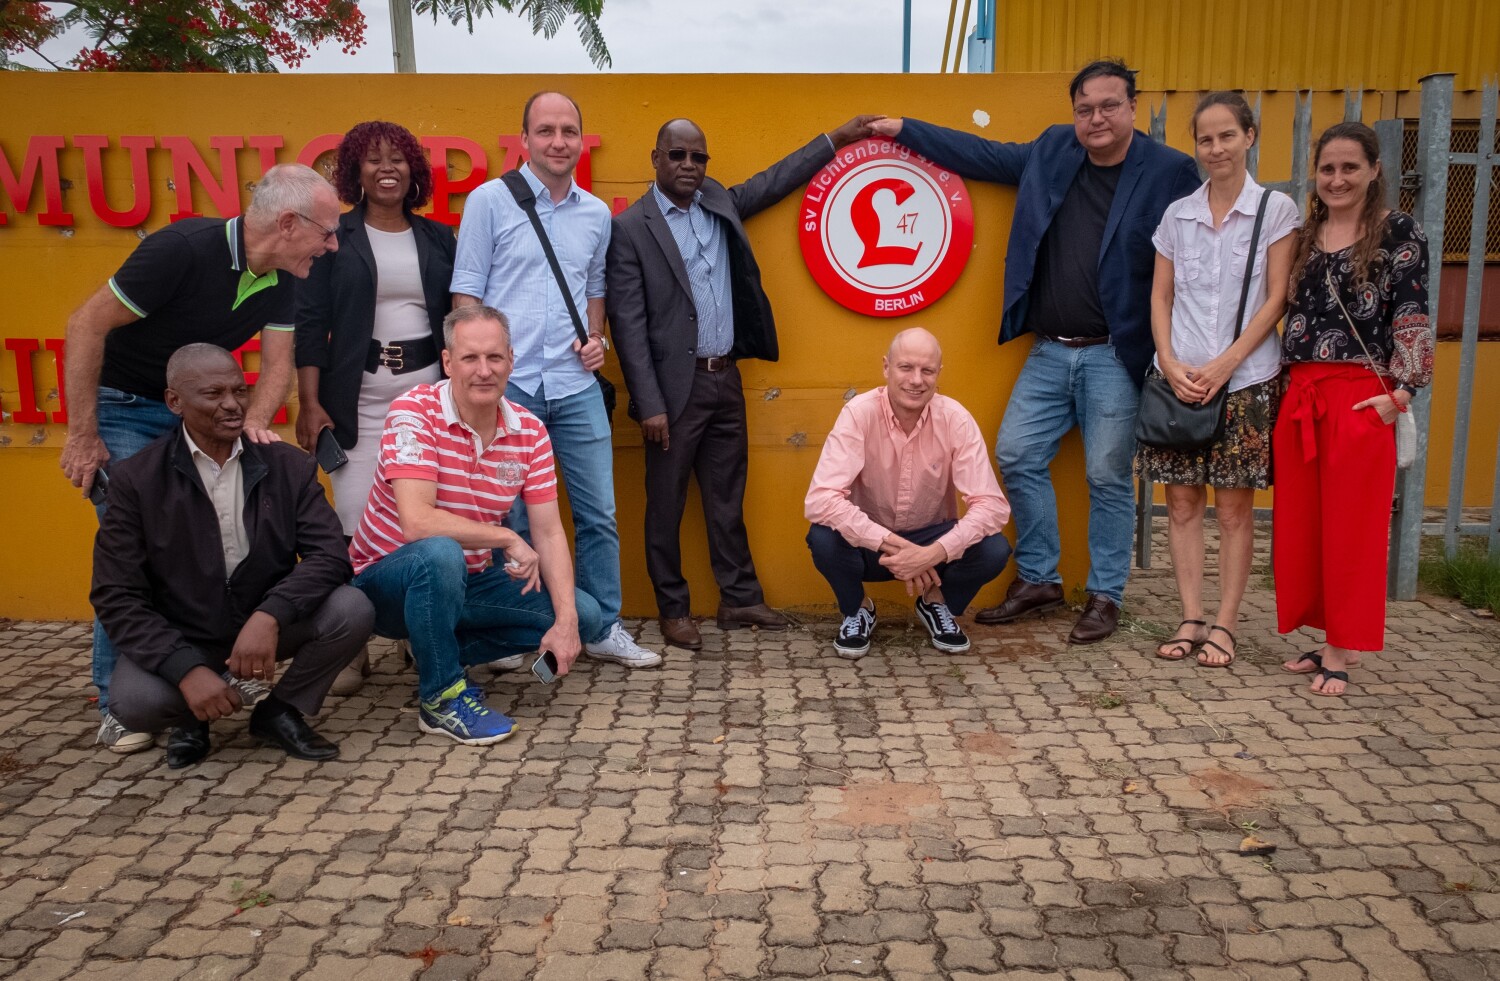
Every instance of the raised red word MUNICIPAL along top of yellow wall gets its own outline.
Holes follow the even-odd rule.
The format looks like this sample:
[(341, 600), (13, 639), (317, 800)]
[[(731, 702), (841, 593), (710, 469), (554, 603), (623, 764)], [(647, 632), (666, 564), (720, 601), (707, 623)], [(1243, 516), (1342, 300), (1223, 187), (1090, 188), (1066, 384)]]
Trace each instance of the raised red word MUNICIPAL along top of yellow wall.
[[(338, 150), (344, 134), (322, 134), (309, 140), (297, 150), (297, 164), (314, 166), (320, 156)], [(429, 218), (448, 225), (459, 224), (459, 213), (453, 210), (453, 198), (478, 188), (489, 177), (489, 153), (477, 141), (466, 136), (420, 136), (423, 148), (434, 160), (447, 164), (432, 168), (432, 212)], [(496, 174), (514, 168), (526, 159), (519, 135), (496, 136), (495, 144), (501, 152)], [(598, 147), (597, 134), (585, 134), (584, 156), (578, 162), (574, 178), (585, 190), (592, 188), (592, 168), (590, 152)], [(220, 218), (232, 218), (240, 213), (240, 188), (244, 182), (264, 174), (276, 164), (291, 162), (286, 141), (276, 134), (255, 134), (249, 136), (208, 136), (210, 154), (216, 156), (218, 166), (210, 166), (204, 152), (188, 136), (99, 136), (99, 135), (36, 135), (27, 140), (26, 150), (18, 152), (15, 141), (0, 140), (0, 195), (9, 202), (10, 210), (20, 214), (34, 214), (39, 225), (72, 225), (74, 212), (63, 202), (63, 190), (70, 186), (62, 177), (64, 154), (81, 153), (84, 183), (88, 189), (88, 207), (104, 222), (117, 228), (135, 228), (152, 213), (152, 183), (150, 164), (153, 158), (165, 154), (171, 166), (171, 183), (168, 189), (176, 194), (176, 208), (166, 216), (176, 222), (182, 218), (198, 218), (201, 212), (194, 210), (194, 188), (202, 188), (213, 210)], [(255, 154), (254, 172), (242, 174), (238, 153), (249, 150)], [(464, 172), (464, 166), (453, 166), (452, 154), (468, 158), (468, 172), (460, 178), (452, 174)], [(12, 160), (20, 156), (16, 166)], [(116, 201), (111, 204), (105, 194), (104, 172), (106, 162), (123, 158), (130, 172), (132, 200), (129, 202)], [(218, 170), (218, 177), (214, 177)], [(40, 190), (42, 208), (33, 212), (32, 200)], [(3, 206), (3, 202), (0, 202)], [(615, 208), (620, 210), (620, 208)], [(3, 207), (0, 207), (0, 225), (9, 224)]]

